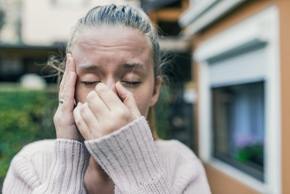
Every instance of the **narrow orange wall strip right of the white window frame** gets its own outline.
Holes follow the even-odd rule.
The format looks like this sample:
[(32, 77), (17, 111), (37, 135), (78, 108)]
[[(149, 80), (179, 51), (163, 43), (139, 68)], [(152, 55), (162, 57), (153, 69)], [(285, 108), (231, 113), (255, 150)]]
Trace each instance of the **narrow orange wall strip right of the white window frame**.
[(282, 191), (290, 193), (290, 1), (277, 0), (280, 15)]

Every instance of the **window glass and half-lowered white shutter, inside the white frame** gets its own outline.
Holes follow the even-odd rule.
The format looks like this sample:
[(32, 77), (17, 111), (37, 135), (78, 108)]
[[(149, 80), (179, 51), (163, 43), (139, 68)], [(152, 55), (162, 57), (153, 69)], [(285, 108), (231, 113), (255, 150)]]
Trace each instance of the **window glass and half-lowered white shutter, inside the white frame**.
[(211, 155), (264, 182), (266, 50), (263, 42), (246, 46), (208, 60)]

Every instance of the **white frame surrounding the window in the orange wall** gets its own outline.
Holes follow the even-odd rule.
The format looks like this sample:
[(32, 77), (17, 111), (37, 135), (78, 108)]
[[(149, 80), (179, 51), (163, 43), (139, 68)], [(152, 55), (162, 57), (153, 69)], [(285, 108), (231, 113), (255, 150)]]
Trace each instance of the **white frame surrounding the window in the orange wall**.
[[(211, 87), (208, 59), (254, 40), (265, 46), (264, 182), (212, 156)], [(281, 193), (281, 89), (278, 8), (271, 5), (203, 41), (194, 60), (199, 64), (199, 157), (201, 160), (260, 193)]]

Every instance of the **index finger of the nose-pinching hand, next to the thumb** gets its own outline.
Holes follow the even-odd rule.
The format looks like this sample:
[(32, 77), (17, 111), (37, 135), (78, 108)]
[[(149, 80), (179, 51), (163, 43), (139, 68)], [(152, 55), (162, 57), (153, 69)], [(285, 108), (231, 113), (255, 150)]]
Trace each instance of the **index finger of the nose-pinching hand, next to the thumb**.
[(119, 97), (105, 84), (99, 83), (96, 85), (95, 89), (100, 98), (110, 110), (113, 110), (116, 106), (124, 106)]

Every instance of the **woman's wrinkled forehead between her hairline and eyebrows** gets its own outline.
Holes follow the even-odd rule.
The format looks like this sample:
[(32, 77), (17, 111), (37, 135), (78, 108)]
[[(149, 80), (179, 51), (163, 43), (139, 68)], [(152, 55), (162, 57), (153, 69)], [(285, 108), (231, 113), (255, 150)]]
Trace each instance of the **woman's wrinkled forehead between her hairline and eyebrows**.
[(76, 65), (84, 63), (153, 63), (146, 36), (133, 28), (87, 29), (73, 41), (71, 52)]

